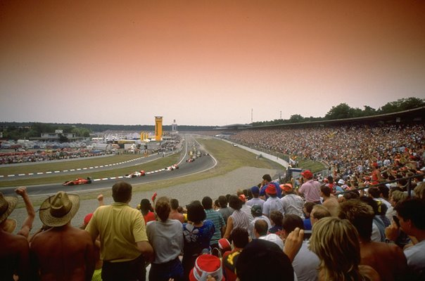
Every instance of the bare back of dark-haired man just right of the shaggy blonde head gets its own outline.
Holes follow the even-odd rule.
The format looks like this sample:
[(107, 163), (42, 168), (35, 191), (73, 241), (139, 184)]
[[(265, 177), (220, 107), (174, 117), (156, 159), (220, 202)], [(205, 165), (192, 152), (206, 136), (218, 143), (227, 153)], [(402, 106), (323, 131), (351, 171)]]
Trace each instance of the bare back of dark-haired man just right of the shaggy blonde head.
[(403, 280), (407, 273), (405, 254), (396, 244), (361, 242), (360, 256), (360, 263), (374, 268), (381, 280)]

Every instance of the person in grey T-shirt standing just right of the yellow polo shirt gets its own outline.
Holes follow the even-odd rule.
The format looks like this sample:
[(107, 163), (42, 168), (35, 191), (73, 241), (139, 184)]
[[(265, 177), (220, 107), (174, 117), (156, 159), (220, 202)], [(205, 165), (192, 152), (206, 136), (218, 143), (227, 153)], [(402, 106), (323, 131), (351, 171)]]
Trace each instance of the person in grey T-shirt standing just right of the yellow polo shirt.
[(149, 242), (155, 249), (149, 280), (183, 279), (183, 266), (179, 260), (179, 254), (183, 251), (182, 223), (170, 219), (170, 210), (168, 198), (158, 198), (155, 211), (160, 220), (150, 221), (146, 225)]

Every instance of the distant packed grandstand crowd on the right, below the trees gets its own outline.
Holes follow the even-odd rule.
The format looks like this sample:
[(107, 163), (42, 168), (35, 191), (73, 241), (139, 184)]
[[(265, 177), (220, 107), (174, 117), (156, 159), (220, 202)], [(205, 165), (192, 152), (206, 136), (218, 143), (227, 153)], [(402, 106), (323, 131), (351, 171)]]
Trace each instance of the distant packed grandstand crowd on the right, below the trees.
[[(416, 162), (424, 154), (425, 124), (329, 126), (235, 131), (231, 140), (260, 150), (326, 162), (343, 175), (380, 166)], [(419, 166), (414, 166), (418, 169)]]

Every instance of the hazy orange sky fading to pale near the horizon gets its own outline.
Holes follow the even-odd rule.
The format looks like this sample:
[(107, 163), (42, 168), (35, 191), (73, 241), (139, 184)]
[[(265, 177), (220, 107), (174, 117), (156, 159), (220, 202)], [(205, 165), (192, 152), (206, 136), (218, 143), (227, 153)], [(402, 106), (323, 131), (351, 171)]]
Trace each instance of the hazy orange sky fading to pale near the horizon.
[(224, 125), (425, 98), (425, 1), (0, 1), (0, 121)]

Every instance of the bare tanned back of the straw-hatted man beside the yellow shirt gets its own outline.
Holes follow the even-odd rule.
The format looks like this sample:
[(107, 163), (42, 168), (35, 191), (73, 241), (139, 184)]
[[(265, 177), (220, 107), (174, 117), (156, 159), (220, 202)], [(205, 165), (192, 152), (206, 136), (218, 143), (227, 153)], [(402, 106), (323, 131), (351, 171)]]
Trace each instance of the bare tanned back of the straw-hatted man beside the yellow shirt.
[(34, 237), (31, 252), (41, 280), (91, 280), (94, 244), (84, 230), (69, 223), (46, 230)]

